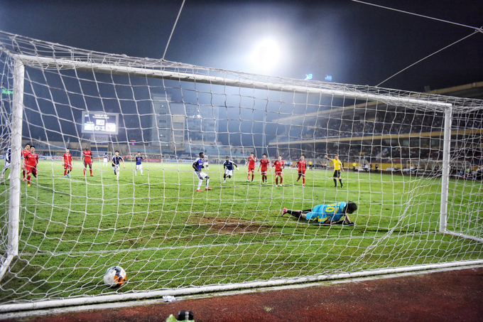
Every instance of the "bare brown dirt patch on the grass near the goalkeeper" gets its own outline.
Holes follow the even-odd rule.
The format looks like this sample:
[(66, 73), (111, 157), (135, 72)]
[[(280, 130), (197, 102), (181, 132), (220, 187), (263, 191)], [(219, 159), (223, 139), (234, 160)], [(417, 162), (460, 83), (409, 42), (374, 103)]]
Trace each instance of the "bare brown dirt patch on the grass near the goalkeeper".
[(242, 234), (263, 231), (260, 224), (237, 218), (202, 217), (197, 223), (219, 234)]

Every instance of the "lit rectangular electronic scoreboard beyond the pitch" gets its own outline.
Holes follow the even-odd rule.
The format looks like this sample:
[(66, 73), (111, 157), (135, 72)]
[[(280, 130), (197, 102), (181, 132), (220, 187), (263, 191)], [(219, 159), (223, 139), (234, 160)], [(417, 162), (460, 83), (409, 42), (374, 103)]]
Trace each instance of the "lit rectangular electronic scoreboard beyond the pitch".
[(82, 133), (117, 135), (119, 114), (82, 112)]

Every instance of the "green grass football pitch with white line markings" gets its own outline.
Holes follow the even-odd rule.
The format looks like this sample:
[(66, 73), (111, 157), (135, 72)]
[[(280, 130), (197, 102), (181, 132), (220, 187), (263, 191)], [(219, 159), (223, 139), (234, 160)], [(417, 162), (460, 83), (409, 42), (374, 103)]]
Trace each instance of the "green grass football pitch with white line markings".
[[(223, 167), (212, 164), (212, 190), (196, 192), (190, 163), (144, 163), (134, 176), (126, 162), (119, 181), (111, 166), (94, 163), (92, 177), (74, 166), (64, 178), (60, 161), (40, 161), (39, 178), (22, 182), (19, 256), (1, 302), (112, 293), (102, 275), (114, 265), (127, 272), (122, 293), (482, 258), (481, 243), (438, 233), (440, 178), (346, 171), (334, 188), (332, 171), (308, 170), (303, 188), (286, 168), (282, 188), (273, 172), (267, 185), (260, 173), (246, 183), (245, 166), (222, 183)], [(0, 214), (8, 188), (2, 181)], [(280, 216), (347, 200), (358, 205), (356, 227)], [(480, 181), (450, 180), (448, 227), (481, 230), (482, 203)]]

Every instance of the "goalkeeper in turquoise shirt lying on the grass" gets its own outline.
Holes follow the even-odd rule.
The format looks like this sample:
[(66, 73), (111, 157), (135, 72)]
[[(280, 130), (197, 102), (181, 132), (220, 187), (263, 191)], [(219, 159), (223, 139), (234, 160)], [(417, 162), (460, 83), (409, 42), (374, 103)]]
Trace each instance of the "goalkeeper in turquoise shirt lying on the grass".
[(282, 216), (288, 213), (295, 218), (305, 220), (317, 220), (320, 225), (349, 225), (355, 226), (349, 219), (349, 214), (357, 210), (357, 205), (352, 201), (331, 203), (330, 205), (316, 205), (308, 210), (288, 210), (283, 208)]

